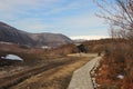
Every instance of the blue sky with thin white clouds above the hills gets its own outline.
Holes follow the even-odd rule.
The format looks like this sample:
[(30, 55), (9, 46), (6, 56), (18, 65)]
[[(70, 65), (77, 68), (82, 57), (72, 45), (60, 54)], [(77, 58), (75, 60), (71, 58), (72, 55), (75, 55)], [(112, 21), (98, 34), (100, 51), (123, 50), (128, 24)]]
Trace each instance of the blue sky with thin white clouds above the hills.
[(0, 0), (0, 21), (32, 33), (73, 39), (109, 37), (108, 24), (95, 12), (93, 0)]

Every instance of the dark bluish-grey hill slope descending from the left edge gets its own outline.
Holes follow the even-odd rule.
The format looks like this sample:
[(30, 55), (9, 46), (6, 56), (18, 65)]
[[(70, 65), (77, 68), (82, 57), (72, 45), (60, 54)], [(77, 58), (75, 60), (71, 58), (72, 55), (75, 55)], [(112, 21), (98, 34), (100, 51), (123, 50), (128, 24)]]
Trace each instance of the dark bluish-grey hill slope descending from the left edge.
[(18, 30), (11, 26), (0, 22), (0, 41), (20, 44), (33, 44), (33, 40), (28, 32)]

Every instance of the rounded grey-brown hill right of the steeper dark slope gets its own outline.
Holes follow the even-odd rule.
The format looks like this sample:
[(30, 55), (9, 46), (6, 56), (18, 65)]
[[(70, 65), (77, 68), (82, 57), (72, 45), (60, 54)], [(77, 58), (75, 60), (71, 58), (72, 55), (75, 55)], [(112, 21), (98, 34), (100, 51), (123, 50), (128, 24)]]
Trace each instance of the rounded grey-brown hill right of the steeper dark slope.
[(30, 38), (35, 41), (37, 47), (59, 47), (62, 44), (72, 43), (70, 38), (61, 33), (31, 33)]

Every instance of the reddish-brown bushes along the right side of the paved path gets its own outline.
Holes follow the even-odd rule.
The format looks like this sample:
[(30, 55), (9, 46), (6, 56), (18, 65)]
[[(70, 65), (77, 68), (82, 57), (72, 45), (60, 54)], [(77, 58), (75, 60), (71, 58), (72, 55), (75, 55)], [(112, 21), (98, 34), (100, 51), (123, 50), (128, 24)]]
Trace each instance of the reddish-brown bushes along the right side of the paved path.
[[(117, 47), (103, 57), (100, 68), (96, 70), (98, 89), (132, 89), (133, 86), (133, 57), (123, 47)], [(131, 55), (131, 56), (130, 56)], [(120, 79), (117, 76), (123, 76)]]

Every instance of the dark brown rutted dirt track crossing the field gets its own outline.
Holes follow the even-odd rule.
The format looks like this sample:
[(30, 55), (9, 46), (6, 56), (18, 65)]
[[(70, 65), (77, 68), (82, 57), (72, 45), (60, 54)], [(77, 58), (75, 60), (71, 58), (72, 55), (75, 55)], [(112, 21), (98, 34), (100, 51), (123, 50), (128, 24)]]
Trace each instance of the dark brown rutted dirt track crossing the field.
[(47, 71), (49, 69), (53, 69), (53, 68), (70, 63), (72, 61), (78, 61), (78, 60), (64, 60), (64, 61), (50, 62), (49, 65), (42, 65), (39, 67), (34, 67), (32, 69), (18, 72), (10, 77), (1, 78), (0, 89), (10, 89), (11, 87), (24, 81), (25, 79), (29, 79), (32, 76)]

